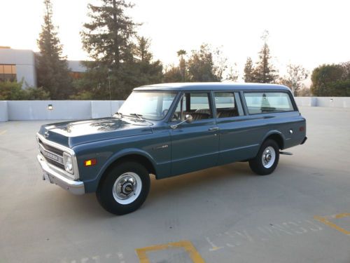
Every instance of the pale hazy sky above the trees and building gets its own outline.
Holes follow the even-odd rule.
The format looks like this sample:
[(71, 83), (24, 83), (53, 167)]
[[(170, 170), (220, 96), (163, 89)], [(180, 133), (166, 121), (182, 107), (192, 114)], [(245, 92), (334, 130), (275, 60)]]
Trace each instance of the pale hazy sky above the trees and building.
[[(87, 4), (99, 0), (52, 0), (53, 22), (69, 60), (87, 60), (79, 32), (88, 22)], [(273, 63), (281, 75), (286, 65), (310, 72), (324, 63), (350, 61), (350, 1), (311, 0), (134, 0), (128, 14), (143, 25), (154, 58), (176, 64), (176, 51), (221, 48), (229, 65), (243, 71), (246, 58), (258, 60), (260, 36), (267, 30)], [(0, 46), (38, 51), (42, 0), (0, 0)]]

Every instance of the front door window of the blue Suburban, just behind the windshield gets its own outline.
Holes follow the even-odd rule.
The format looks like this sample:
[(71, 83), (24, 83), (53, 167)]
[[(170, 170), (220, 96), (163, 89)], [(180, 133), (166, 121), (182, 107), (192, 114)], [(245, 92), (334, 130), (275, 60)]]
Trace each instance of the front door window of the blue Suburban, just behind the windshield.
[(194, 121), (213, 118), (209, 93), (184, 93), (176, 107), (172, 121), (181, 121), (190, 114)]

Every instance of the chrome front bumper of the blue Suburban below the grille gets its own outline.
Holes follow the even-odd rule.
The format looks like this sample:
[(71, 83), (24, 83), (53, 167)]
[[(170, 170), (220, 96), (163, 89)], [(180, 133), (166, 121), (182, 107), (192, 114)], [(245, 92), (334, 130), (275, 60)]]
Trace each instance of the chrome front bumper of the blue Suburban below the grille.
[(63, 175), (60, 175), (57, 173), (57, 171), (50, 168), (41, 154), (38, 154), (36, 158), (38, 159), (38, 162), (43, 169), (43, 180), (49, 180), (51, 184), (57, 184), (59, 187), (70, 191), (72, 194), (85, 194), (85, 187), (83, 182), (74, 181), (64, 177)]

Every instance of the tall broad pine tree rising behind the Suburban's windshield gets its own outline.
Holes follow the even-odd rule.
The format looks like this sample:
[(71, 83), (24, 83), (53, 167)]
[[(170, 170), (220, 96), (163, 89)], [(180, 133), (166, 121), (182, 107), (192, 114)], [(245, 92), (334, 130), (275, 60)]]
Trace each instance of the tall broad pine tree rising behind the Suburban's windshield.
[(123, 99), (130, 93), (134, 83), (132, 39), (139, 24), (125, 14), (127, 9), (133, 7), (132, 4), (124, 0), (101, 0), (101, 3), (101, 6), (88, 5), (91, 21), (83, 25), (80, 34), (83, 48), (94, 60), (94, 63), (90, 63), (88, 73), (104, 72), (108, 78), (92, 74), (98, 78), (90, 79), (90, 82), (92, 86), (98, 87), (99, 98), (109, 97), (111, 91), (113, 98)]

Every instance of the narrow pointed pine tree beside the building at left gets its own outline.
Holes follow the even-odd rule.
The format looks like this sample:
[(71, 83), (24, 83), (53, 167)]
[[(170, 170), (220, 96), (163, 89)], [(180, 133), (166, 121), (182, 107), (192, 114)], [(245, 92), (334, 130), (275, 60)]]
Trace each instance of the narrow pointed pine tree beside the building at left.
[(38, 86), (50, 93), (52, 100), (67, 99), (73, 93), (66, 57), (57, 36), (57, 27), (52, 23), (52, 4), (44, 0), (45, 15), (37, 40), (40, 54), (36, 56)]

